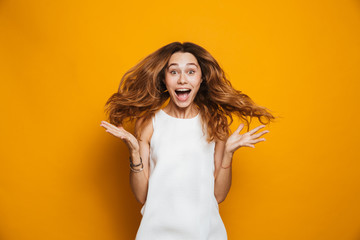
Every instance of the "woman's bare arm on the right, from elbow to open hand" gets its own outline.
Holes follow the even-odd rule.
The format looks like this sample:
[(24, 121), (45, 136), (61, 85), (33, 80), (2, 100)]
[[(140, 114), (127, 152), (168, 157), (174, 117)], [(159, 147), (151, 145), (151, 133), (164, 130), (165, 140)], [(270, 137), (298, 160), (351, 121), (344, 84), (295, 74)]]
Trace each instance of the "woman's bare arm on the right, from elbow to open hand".
[(266, 130), (254, 134), (260, 128), (265, 127), (265, 125), (260, 125), (254, 128), (253, 130), (241, 135), (239, 133), (243, 127), (244, 124), (241, 123), (238, 129), (236, 129), (236, 131), (229, 138), (227, 138), (226, 141), (217, 141), (215, 145), (214, 193), (218, 203), (221, 203), (225, 200), (231, 187), (232, 157), (234, 155), (234, 152), (240, 147), (244, 147), (244, 146), (255, 148), (253, 144), (258, 143), (260, 141), (265, 141), (265, 138), (260, 138), (260, 139), (257, 138), (269, 132), (269, 130)]

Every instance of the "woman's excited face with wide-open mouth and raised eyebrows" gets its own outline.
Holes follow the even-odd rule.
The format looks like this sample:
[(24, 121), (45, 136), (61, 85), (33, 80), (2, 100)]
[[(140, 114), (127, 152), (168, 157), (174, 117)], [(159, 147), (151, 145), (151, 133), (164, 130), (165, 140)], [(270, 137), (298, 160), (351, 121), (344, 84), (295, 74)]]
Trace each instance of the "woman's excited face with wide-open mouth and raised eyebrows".
[(196, 57), (188, 52), (175, 52), (165, 70), (165, 85), (171, 101), (181, 108), (190, 106), (201, 82), (201, 69)]

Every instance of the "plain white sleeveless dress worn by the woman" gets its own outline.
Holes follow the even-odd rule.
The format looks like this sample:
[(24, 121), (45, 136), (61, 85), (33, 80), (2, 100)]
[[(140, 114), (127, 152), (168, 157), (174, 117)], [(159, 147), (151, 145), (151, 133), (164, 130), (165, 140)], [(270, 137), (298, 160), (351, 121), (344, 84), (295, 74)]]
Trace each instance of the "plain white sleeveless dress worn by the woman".
[[(214, 195), (214, 147), (200, 115), (152, 119), (150, 176), (136, 240), (226, 240)], [(206, 128), (205, 128), (206, 129)]]

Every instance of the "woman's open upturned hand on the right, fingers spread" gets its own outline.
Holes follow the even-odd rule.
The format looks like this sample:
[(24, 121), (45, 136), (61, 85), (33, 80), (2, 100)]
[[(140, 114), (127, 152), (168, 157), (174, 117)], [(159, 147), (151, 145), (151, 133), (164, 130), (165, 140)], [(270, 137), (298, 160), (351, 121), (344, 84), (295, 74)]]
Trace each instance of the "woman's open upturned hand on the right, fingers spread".
[(247, 133), (239, 134), (241, 129), (243, 129), (244, 124), (241, 123), (240, 126), (236, 129), (236, 131), (227, 139), (226, 141), (226, 151), (228, 153), (234, 153), (237, 149), (240, 147), (252, 147), (255, 148), (253, 144), (265, 141), (265, 138), (259, 138), (258, 137), (264, 135), (265, 133), (268, 133), (269, 130), (265, 130), (262, 132), (259, 132), (257, 134), (254, 134), (259, 129), (265, 127), (265, 125), (260, 125), (252, 130), (250, 130)]

